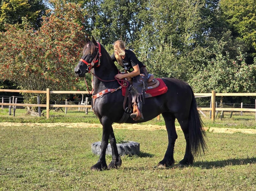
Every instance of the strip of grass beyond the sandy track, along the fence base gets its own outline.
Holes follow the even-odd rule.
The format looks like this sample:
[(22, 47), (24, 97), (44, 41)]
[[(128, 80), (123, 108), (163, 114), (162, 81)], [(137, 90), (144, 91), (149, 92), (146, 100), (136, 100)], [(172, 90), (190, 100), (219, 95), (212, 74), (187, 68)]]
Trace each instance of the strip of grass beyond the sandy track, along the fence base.
[[(98, 117), (91, 111), (88, 112), (88, 115), (83, 111), (78, 111), (78, 109), (68, 108), (67, 114), (62, 111), (50, 110), (50, 117), (46, 119), (45, 116), (35, 117), (26, 114), (25, 109), (16, 109), (15, 117), (13, 115), (8, 115), (8, 109), (0, 109), (0, 122), (22, 122), (22, 123), (54, 123), (54, 122), (86, 122), (86, 123), (100, 123)], [(12, 113), (13, 114), (13, 113)], [(207, 117), (201, 116), (205, 127), (219, 127), (219, 128), (252, 128), (256, 129), (256, 120), (254, 112), (243, 112), (241, 116), (240, 112), (234, 112), (232, 118), (230, 117), (230, 112), (226, 111), (224, 113), (224, 118), (216, 118), (215, 121), (210, 119), (209, 111), (205, 111)], [(157, 118), (154, 118), (148, 122), (139, 123), (139, 124), (152, 124), (152, 125), (165, 125), (163, 117), (160, 117), (160, 121)], [(179, 125), (178, 122), (175, 122), (175, 125)]]

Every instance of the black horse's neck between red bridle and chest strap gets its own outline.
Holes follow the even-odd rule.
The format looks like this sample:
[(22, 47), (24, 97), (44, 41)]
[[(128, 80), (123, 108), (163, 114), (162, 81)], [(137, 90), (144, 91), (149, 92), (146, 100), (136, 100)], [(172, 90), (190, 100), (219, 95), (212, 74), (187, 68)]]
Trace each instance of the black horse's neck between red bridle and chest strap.
[(110, 58), (108, 52), (102, 47), (100, 58), (100, 66), (94, 68), (93, 85), (95, 93), (105, 89), (118, 88), (118, 83), (115, 76), (118, 74), (118, 69)]

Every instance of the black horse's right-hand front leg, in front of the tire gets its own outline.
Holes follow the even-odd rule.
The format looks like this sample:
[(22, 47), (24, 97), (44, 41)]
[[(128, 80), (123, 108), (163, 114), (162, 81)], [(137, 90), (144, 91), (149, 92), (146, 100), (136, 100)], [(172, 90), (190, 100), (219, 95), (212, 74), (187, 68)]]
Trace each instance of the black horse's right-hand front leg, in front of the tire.
[(114, 135), (113, 127), (111, 126), (111, 132), (109, 136), (109, 141), (112, 150), (112, 161), (109, 163), (108, 168), (118, 168), (122, 164), (122, 160), (118, 154), (117, 145), (116, 145), (116, 138)]

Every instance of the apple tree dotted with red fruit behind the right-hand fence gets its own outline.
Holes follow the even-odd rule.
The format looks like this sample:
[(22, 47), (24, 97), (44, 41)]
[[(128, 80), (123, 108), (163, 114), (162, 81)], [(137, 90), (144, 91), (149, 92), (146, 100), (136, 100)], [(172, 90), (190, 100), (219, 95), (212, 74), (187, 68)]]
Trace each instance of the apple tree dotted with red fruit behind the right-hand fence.
[(253, 93), (256, 91), (256, 60), (246, 64), (246, 53), (231, 57), (229, 52), (223, 54), (227, 41), (216, 41), (212, 49), (213, 57), (189, 81), (197, 93), (215, 90), (218, 93)]

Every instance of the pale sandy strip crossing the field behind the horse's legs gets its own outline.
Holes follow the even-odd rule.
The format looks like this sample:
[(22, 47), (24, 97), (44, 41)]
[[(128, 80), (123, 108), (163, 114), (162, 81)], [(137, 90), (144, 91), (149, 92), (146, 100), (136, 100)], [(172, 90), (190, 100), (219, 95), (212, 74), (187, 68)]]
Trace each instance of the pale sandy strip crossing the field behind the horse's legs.
[[(79, 128), (97, 128), (102, 127), (101, 124), (91, 124), (91, 123), (11, 123), (11, 122), (0, 122), (1, 126), (47, 126), (47, 127), (54, 127), (54, 126), (65, 126), (65, 127), (79, 127)], [(113, 124), (114, 129), (132, 129), (132, 130), (159, 130), (164, 129), (165, 126), (160, 125), (141, 125), (141, 124)], [(176, 127), (176, 130), (181, 130), (180, 126)], [(256, 134), (256, 129), (234, 129), (234, 128), (215, 128), (211, 127), (210, 129), (205, 127), (205, 130), (208, 130), (209, 132), (215, 132), (215, 133), (248, 133), (248, 134)]]

